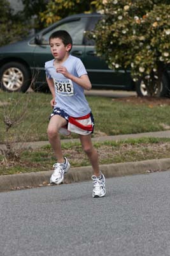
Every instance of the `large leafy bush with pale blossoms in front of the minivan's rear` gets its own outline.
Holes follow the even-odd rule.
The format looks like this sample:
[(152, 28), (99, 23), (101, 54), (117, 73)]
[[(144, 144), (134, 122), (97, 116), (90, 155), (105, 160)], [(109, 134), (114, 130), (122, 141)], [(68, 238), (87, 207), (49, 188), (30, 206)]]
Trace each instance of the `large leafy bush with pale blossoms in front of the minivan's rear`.
[(170, 63), (169, 0), (103, 0), (103, 12), (92, 35), (97, 55), (113, 70), (131, 68), (134, 81), (160, 85)]

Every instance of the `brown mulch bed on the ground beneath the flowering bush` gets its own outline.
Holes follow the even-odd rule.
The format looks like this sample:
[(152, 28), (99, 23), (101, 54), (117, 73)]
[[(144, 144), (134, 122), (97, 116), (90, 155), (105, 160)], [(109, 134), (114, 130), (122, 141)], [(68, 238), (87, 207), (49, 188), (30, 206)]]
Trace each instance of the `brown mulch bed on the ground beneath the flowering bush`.
[(167, 97), (138, 97), (138, 96), (130, 96), (130, 97), (124, 97), (124, 98), (117, 98), (117, 99), (112, 99), (114, 101), (118, 102), (127, 102), (131, 104), (145, 104), (150, 107), (152, 106), (166, 106), (170, 105), (170, 98)]

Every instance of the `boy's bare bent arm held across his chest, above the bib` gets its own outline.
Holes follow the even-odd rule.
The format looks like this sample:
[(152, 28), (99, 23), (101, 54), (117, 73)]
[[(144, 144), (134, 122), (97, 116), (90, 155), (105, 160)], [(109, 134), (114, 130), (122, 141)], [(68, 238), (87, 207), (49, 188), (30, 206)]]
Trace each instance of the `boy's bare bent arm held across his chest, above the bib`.
[(58, 73), (63, 74), (68, 79), (71, 79), (71, 81), (73, 81), (74, 83), (80, 85), (85, 90), (91, 90), (92, 84), (90, 83), (89, 76), (87, 76), (87, 74), (82, 75), (81, 77), (76, 77), (76, 76), (73, 76), (72, 74), (70, 74), (69, 72), (67, 72), (67, 68), (66, 67), (62, 67), (62, 66), (58, 67), (56, 69), (56, 71)]

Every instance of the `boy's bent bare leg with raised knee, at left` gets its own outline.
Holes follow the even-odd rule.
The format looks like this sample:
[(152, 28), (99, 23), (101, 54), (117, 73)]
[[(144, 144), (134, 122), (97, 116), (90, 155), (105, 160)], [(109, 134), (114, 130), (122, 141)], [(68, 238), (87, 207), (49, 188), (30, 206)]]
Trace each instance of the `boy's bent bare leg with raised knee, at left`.
[(64, 118), (62, 118), (62, 116), (54, 115), (50, 119), (47, 129), (48, 140), (53, 148), (54, 155), (59, 163), (64, 162), (64, 157), (62, 155), (62, 148), (60, 143), (59, 129), (60, 127), (66, 124), (67, 121)]

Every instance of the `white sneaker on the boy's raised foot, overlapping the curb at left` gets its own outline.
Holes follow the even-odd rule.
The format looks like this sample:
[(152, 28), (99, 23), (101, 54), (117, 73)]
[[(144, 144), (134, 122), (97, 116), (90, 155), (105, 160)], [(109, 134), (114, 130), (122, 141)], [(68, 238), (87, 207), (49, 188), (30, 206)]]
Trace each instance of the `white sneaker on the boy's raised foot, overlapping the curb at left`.
[(62, 180), (64, 180), (64, 173), (67, 173), (69, 168), (70, 168), (70, 164), (69, 161), (67, 161), (67, 158), (64, 157), (65, 159), (65, 163), (64, 164), (60, 164), (60, 163), (55, 163), (53, 164), (53, 167), (55, 168), (53, 171), (53, 174), (50, 178), (50, 183), (52, 184), (60, 184), (62, 182)]

